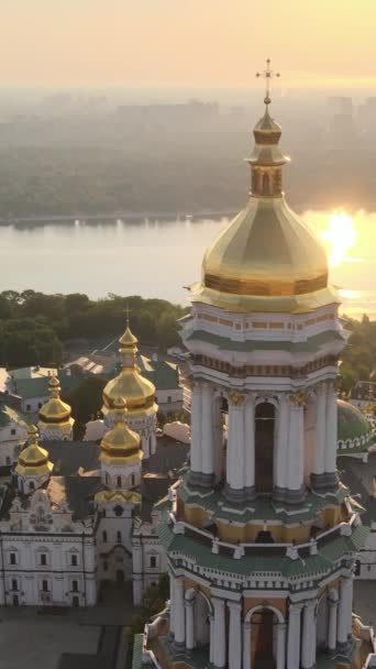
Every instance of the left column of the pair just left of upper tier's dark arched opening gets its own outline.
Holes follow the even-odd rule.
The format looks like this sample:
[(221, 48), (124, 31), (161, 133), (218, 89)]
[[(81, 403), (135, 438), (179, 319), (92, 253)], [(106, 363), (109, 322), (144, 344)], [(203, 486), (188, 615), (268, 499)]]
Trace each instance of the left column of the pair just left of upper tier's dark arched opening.
[(244, 399), (241, 393), (230, 393), (226, 482), (236, 492), (244, 489)]

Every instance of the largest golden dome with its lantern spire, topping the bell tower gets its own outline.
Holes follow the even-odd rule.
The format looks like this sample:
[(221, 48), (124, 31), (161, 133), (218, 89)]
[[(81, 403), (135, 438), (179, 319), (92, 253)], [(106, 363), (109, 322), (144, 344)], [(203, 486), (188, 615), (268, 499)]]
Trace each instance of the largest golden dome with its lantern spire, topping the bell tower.
[(268, 103), (254, 130), (246, 207), (207, 250), (192, 301), (229, 311), (303, 311), (338, 301), (323, 248), (281, 190), (280, 127)]

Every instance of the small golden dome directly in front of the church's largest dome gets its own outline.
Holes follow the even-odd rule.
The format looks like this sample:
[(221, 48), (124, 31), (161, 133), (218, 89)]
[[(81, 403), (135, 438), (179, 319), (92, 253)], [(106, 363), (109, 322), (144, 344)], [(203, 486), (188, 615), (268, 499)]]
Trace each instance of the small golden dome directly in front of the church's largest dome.
[(139, 461), (143, 453), (140, 450), (141, 438), (131, 430), (126, 423), (126, 405), (122, 397), (114, 401), (114, 427), (106, 432), (100, 446), (102, 449), (100, 459), (104, 462)]

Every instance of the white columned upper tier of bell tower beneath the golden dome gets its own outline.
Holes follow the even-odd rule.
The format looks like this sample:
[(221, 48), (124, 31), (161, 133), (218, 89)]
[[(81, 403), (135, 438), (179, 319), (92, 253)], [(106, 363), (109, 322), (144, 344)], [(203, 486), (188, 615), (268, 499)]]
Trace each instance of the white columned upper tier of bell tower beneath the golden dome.
[[(217, 326), (215, 320), (229, 326)], [(328, 323), (333, 337), (310, 351), (309, 339), (323, 336)], [(210, 486), (225, 476), (230, 496), (252, 495), (257, 479), (257, 412), (269, 405), (267, 410), (274, 421), (272, 485), (276, 497), (281, 500), (287, 495), (290, 501), (299, 500), (305, 486), (311, 482), (318, 490), (335, 485), (334, 380), (336, 359), (344, 346), (336, 307), (318, 309), (314, 317), (308, 319), (307, 316), (223, 314), (197, 304), (192, 309), (191, 327), (208, 333), (204, 341), (193, 336), (186, 341), (195, 379), (192, 481), (196, 478), (197, 482)], [(223, 343), (220, 349), (215, 346), (219, 332), (221, 338), (228, 338), (228, 349)], [(210, 343), (210, 336), (213, 343)], [(247, 341), (254, 344), (252, 352), (246, 352)], [(267, 342), (267, 347), (262, 342)], [(233, 344), (243, 344), (244, 353), (237, 352), (235, 358), (231, 350)], [(296, 354), (294, 348), (298, 351)], [(306, 354), (301, 352), (305, 348)], [(226, 463), (224, 449), (220, 446), (223, 441), (223, 403), (228, 407)], [(259, 418), (264, 416), (259, 415)]]

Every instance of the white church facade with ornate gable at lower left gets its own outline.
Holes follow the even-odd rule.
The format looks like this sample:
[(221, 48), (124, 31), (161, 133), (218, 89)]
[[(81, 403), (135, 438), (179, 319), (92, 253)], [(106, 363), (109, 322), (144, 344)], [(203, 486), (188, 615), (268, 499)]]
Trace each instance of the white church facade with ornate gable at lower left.
[(1, 604), (92, 606), (97, 601), (95, 528), (75, 523), (64, 500), (53, 505), (54, 493), (36, 490), (27, 508), (15, 497), (9, 520), (0, 522)]

